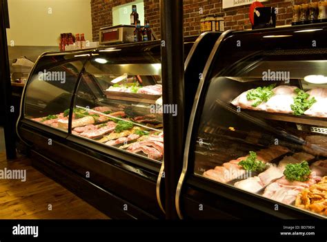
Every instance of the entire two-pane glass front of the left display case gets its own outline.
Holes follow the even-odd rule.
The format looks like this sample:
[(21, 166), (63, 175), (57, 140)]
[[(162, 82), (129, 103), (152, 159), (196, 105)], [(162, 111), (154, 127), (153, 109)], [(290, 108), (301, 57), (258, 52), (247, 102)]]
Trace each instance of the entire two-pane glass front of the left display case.
[(26, 90), (25, 117), (99, 145), (161, 161), (160, 49), (147, 47), (146, 52), (128, 56), (130, 49), (103, 48), (74, 55), (77, 59), (70, 62), (57, 61), (54, 67), (37, 66)]

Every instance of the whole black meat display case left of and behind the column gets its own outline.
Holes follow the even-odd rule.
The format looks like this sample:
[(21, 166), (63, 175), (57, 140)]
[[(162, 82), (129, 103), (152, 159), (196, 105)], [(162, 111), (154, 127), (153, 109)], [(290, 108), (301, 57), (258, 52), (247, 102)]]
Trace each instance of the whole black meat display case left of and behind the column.
[[(186, 84), (190, 104), (219, 35), (185, 38), (185, 68), (197, 73)], [(160, 48), (44, 53), (23, 91), (17, 133), (32, 165), (110, 218), (165, 216)]]

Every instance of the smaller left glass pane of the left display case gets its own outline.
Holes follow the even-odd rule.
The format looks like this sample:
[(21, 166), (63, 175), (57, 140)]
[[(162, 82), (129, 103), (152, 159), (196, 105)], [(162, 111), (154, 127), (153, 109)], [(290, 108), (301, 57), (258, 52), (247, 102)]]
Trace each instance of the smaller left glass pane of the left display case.
[[(41, 57), (26, 86), (24, 116), (41, 124), (68, 130), (68, 109), (86, 57)], [(59, 123), (64, 123), (59, 125)]]

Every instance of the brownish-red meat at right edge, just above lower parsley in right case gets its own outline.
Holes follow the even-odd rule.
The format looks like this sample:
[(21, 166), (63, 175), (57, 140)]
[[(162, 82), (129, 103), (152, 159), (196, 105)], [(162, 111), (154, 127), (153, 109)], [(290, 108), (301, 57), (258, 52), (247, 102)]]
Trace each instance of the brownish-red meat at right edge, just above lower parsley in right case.
[(316, 156), (327, 156), (327, 137), (307, 136), (303, 149)]

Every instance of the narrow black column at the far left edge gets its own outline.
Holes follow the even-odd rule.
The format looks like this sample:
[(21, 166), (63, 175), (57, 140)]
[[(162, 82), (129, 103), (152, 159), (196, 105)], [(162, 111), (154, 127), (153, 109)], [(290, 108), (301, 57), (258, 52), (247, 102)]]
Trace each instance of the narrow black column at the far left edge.
[(12, 93), (6, 28), (9, 28), (7, 0), (0, 0), (0, 98), (5, 113), (3, 127), (5, 133), (6, 154), (7, 159), (12, 160), (16, 158), (14, 112), (18, 112), (19, 110), (12, 110), (11, 107)]

